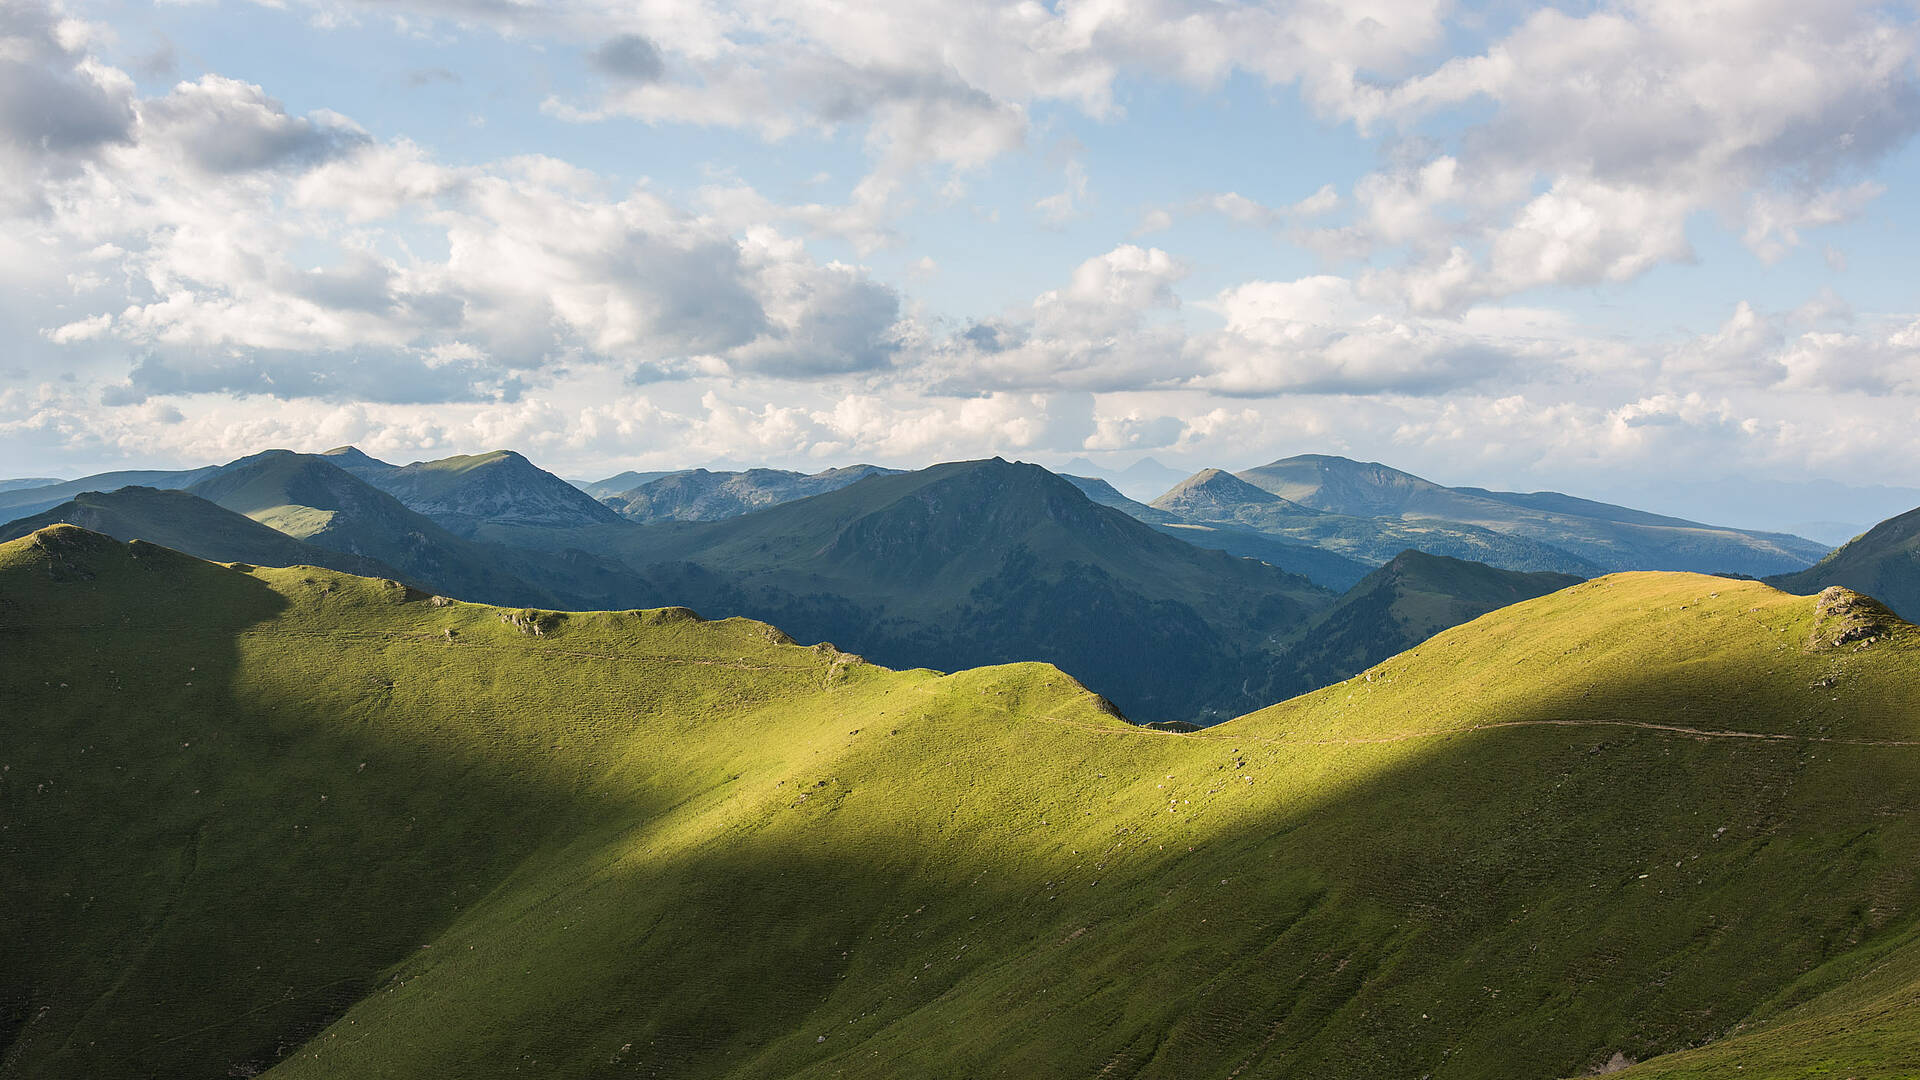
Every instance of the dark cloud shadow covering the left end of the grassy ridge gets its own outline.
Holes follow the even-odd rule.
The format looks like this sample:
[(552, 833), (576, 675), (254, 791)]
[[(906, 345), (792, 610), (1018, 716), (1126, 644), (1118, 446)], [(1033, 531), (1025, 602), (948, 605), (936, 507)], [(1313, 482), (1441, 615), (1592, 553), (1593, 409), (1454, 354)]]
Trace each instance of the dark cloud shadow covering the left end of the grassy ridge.
[(265, 696), (278, 592), (88, 536), (0, 592), (0, 1076), (252, 1074), (541, 844), (680, 798), (392, 723), (376, 640), (253, 640), (305, 669)]

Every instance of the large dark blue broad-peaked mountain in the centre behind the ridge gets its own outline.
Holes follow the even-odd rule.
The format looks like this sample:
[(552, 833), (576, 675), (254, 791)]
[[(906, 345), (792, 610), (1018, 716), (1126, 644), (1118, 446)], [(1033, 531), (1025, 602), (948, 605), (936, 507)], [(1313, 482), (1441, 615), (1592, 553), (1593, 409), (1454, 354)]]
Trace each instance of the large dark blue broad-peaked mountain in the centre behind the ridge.
[(726, 521), (516, 540), (620, 557), (660, 601), (776, 621), (879, 663), (1058, 663), (1140, 721), (1217, 721), (1265, 700), (1269, 644), (1332, 601), (1000, 459), (877, 475)]

